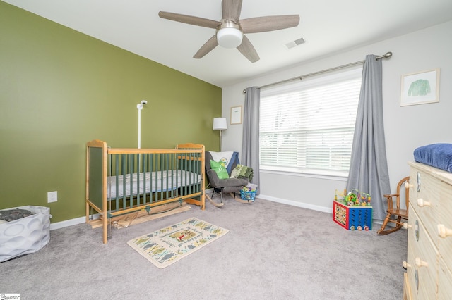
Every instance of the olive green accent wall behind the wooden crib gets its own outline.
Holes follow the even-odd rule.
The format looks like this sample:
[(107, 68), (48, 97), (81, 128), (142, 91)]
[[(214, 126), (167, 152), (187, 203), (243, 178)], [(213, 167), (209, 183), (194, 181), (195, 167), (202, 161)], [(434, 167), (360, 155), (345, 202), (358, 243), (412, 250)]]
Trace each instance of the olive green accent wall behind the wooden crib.
[(0, 208), (85, 215), (85, 144), (136, 148), (142, 99), (141, 148), (218, 151), (220, 87), (0, 1)]

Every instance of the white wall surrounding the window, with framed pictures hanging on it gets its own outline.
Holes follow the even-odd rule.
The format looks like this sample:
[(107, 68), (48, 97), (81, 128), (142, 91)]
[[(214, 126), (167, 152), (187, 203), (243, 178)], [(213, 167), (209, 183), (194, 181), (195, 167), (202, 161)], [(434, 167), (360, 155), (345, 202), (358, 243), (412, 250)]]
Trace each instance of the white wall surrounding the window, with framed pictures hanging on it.
[[(383, 113), (391, 190), (407, 176), (407, 161), (418, 146), (452, 142), (452, 22), (362, 46), (335, 56), (311, 61), (275, 73), (255, 77), (222, 89), (222, 114), (230, 123), (230, 108), (244, 104), (243, 89), (326, 70), (364, 60), (367, 54), (393, 56), (383, 60)], [(441, 69), (439, 103), (400, 107), (400, 82), (404, 74)], [(242, 125), (228, 125), (223, 150), (242, 151)], [(346, 180), (261, 172), (261, 197), (287, 204), (332, 211), (335, 189)], [(374, 199), (375, 201), (375, 199)]]

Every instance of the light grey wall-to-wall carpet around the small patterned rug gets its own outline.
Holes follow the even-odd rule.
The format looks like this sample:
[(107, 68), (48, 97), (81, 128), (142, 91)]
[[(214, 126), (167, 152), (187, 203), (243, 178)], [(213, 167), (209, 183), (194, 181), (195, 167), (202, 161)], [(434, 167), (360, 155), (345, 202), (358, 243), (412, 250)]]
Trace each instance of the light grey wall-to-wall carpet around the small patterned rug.
[[(262, 199), (224, 202), (113, 228), (107, 244), (101, 228), (53, 230), (40, 251), (0, 263), (0, 293), (46, 300), (402, 299), (406, 230), (379, 236), (379, 225), (345, 230), (331, 213)], [(164, 269), (126, 244), (188, 218), (230, 232)]]

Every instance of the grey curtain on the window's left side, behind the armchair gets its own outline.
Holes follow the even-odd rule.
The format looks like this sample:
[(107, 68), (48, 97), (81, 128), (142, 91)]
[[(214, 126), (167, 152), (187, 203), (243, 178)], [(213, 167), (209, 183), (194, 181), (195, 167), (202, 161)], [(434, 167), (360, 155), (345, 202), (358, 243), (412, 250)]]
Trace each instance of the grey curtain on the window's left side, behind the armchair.
[(243, 112), (242, 165), (253, 168), (253, 181), (259, 194), (259, 106), (261, 90), (258, 87), (246, 88)]

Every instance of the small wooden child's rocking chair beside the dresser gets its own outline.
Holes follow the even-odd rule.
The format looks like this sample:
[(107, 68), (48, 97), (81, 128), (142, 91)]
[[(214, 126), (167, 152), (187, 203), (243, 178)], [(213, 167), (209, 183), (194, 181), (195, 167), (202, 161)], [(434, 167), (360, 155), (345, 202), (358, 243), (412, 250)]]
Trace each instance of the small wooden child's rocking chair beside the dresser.
[[(396, 232), (397, 230), (400, 230), (400, 228), (403, 227), (403, 223), (401, 222), (401, 220), (402, 219), (408, 220), (409, 180), (410, 177), (405, 177), (398, 182), (397, 194), (383, 195), (386, 197), (386, 200), (388, 201), (388, 210), (386, 211), (388, 214), (386, 215), (386, 218), (384, 219), (383, 225), (381, 225), (380, 230), (376, 232), (378, 235), (388, 235), (389, 233)], [(400, 189), (402, 188), (402, 186), (405, 188), (406, 209), (400, 209)], [(396, 197), (396, 207), (393, 206), (393, 197)], [(396, 218), (391, 219), (391, 215), (394, 215)], [(388, 224), (388, 222), (396, 223), (396, 227), (391, 227), (391, 229), (385, 230), (385, 227)]]

